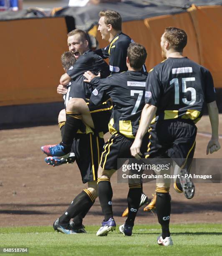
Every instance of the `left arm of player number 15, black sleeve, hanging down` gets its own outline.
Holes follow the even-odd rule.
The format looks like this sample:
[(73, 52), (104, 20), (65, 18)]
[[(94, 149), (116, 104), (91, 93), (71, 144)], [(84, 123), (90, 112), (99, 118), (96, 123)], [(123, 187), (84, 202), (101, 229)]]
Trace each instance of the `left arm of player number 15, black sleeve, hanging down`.
[(142, 144), (142, 139), (144, 134), (147, 132), (152, 118), (156, 114), (157, 106), (159, 105), (161, 95), (161, 83), (156, 74), (156, 71), (152, 71), (148, 74), (146, 80), (146, 92), (145, 92), (145, 102), (146, 105), (143, 108), (141, 114), (141, 120), (139, 124), (139, 129), (136, 133), (134, 143), (132, 144), (130, 151), (131, 155), (136, 159), (141, 158), (140, 147)]

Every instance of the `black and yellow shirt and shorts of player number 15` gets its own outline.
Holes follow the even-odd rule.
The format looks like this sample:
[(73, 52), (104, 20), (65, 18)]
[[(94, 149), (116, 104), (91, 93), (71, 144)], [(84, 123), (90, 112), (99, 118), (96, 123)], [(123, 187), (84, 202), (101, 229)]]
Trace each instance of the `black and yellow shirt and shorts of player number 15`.
[(168, 58), (149, 72), (145, 98), (157, 107), (146, 158), (170, 157), (184, 168), (194, 155), (204, 102), (216, 98), (210, 72), (187, 57)]

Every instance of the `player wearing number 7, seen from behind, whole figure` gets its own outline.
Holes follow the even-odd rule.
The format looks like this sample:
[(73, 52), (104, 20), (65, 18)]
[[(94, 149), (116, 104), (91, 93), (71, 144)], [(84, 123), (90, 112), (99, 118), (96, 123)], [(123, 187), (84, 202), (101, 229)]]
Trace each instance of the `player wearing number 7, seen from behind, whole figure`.
[[(133, 143), (141, 110), (144, 106), (144, 92), (147, 74), (141, 71), (146, 60), (146, 49), (140, 44), (130, 44), (127, 51), (126, 65), (128, 71), (112, 74), (100, 81), (98, 77), (90, 84), (98, 85), (93, 90), (90, 104), (98, 105), (108, 95), (113, 101), (113, 110), (109, 122), (111, 138), (105, 143), (100, 166), (98, 169), (98, 197), (104, 214), (104, 220), (97, 236), (106, 236), (110, 230), (115, 230), (116, 223), (112, 212), (112, 187), (110, 178), (117, 170), (118, 158), (130, 158), (130, 146)], [(90, 79), (90, 75), (87, 76)], [(148, 143), (144, 138), (141, 150), (145, 150)], [(128, 208), (130, 209), (126, 223), (121, 225), (120, 231), (131, 236), (134, 220), (141, 201), (141, 181), (129, 184)]]

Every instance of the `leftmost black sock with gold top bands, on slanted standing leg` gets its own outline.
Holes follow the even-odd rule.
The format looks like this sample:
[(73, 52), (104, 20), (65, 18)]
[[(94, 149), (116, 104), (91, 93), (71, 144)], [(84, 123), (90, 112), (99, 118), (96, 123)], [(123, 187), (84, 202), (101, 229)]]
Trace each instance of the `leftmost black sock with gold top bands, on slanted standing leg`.
[(74, 218), (80, 212), (84, 212), (86, 208), (88, 209), (89, 205), (91, 207), (95, 200), (96, 197), (88, 189), (83, 189), (83, 191), (73, 199), (66, 212), (61, 215), (59, 218), (60, 223), (69, 222), (71, 218)]

